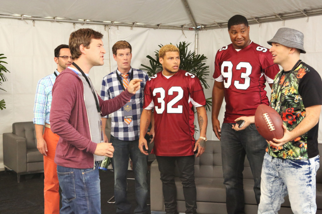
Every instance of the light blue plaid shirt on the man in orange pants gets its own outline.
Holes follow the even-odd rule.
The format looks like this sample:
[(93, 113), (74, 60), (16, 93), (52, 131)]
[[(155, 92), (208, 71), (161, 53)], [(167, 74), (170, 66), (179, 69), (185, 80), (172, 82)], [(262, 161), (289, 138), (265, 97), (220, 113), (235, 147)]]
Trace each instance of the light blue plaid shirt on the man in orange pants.
[[(59, 72), (56, 70), (58, 75)], [(33, 106), (33, 123), (44, 125), (49, 123), (50, 107), (52, 105), (52, 86), (56, 80), (55, 74), (40, 79), (37, 83), (35, 102)]]

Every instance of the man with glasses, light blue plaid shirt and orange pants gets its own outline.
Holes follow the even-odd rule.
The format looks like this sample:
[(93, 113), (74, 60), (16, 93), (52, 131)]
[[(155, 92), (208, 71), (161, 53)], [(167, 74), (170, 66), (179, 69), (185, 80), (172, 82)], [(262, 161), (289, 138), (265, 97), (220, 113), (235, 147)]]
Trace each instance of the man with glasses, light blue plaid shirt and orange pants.
[[(59, 45), (56, 47), (54, 56), (54, 61), (57, 63), (57, 69), (54, 73), (47, 75), (38, 81), (33, 107), (33, 123), (35, 124), (37, 149), (44, 156), (45, 214), (58, 214), (60, 201), (57, 165), (54, 163), (59, 136), (52, 133), (49, 123), (50, 107), (52, 104), (52, 86), (56, 77), (73, 62), (68, 45)], [(43, 132), (44, 126), (45, 130)]]

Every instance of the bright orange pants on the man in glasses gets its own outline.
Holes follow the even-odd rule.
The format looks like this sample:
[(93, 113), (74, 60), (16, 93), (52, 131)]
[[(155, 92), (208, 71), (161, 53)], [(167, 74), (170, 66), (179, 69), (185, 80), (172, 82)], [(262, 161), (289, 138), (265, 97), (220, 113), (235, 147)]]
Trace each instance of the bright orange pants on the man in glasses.
[(57, 176), (57, 165), (54, 162), (55, 151), (59, 136), (52, 133), (50, 128), (45, 128), (43, 139), (47, 143), (47, 156), (43, 156), (44, 168), (44, 199), (45, 199), (45, 214), (59, 214), (59, 182)]

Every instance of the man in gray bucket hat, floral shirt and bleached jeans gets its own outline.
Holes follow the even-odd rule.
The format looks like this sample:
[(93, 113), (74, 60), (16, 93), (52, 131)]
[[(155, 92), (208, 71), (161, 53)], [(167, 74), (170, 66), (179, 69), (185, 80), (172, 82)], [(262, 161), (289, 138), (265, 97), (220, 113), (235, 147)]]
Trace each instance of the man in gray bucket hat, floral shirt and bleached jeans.
[(314, 68), (300, 60), (302, 32), (280, 28), (270, 52), (282, 66), (270, 98), (283, 120), (284, 136), (268, 141), (261, 173), (258, 213), (277, 213), (289, 194), (293, 213), (315, 213), (318, 121), (322, 104), (322, 81)]

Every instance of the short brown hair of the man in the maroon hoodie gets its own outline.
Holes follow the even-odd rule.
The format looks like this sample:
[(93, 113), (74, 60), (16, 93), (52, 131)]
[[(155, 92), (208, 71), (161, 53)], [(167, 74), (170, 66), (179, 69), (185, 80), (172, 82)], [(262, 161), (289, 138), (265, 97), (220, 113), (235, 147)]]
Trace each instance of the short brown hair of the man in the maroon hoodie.
[(90, 28), (81, 28), (71, 33), (69, 37), (69, 49), (71, 58), (78, 59), (81, 56), (80, 45), (89, 48), (91, 39), (102, 39), (103, 34)]

